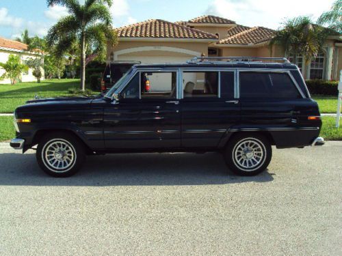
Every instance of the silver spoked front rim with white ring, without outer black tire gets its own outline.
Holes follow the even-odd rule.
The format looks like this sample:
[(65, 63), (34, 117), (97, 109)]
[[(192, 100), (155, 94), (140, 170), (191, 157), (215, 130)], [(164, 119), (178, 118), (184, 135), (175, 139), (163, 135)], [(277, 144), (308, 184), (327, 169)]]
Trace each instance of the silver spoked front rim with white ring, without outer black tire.
[(62, 173), (75, 165), (75, 148), (64, 139), (53, 139), (44, 145), (42, 159), (49, 170)]

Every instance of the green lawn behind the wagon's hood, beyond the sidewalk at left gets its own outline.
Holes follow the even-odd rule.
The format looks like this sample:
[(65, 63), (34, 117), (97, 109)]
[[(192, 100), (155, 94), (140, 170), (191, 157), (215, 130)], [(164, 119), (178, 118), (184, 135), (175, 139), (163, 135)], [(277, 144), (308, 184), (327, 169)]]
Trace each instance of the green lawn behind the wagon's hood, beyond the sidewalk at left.
[(12, 113), (17, 106), (25, 104), (34, 96), (56, 97), (70, 96), (68, 89), (79, 87), (79, 79), (51, 79), (42, 83), (18, 83), (16, 85), (0, 85), (0, 113)]

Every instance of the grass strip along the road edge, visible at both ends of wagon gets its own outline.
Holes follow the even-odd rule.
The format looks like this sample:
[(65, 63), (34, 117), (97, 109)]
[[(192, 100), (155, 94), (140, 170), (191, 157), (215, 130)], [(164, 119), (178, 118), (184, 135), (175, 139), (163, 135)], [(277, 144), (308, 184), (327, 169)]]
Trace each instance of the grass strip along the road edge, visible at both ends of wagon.
[[(342, 120), (341, 127), (335, 128), (335, 117), (322, 117), (323, 126), (319, 136), (326, 141), (342, 141)], [(0, 141), (8, 141), (15, 137), (13, 117), (0, 117)]]

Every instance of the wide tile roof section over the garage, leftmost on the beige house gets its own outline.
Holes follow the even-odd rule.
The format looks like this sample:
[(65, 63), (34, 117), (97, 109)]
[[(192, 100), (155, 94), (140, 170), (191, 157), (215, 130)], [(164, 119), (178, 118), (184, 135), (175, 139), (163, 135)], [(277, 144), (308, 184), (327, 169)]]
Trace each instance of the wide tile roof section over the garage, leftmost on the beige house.
[(120, 38), (216, 39), (216, 35), (170, 23), (166, 20), (146, 20), (116, 29)]

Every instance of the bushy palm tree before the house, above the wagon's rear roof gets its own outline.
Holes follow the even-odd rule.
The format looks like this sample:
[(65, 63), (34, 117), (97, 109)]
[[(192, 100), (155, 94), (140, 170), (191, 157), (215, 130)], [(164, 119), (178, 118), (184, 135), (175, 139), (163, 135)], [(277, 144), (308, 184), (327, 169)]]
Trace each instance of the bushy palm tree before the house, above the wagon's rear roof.
[(291, 51), (295, 57), (302, 55), (308, 64), (321, 51), (328, 35), (328, 29), (313, 24), (306, 16), (300, 16), (285, 21), (269, 41), (269, 48), (272, 54), (273, 46), (280, 45), (285, 50), (285, 57), (289, 57)]

